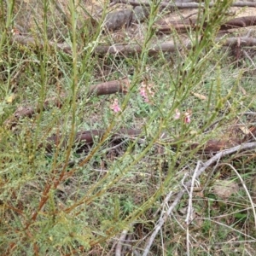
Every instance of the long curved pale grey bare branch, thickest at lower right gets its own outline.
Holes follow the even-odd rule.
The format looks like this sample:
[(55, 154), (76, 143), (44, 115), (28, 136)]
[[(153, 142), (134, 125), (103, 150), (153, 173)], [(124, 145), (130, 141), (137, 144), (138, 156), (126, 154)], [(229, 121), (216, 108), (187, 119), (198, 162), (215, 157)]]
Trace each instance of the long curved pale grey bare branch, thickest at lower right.
[[(229, 148), (229, 149), (225, 149), (223, 151), (218, 152), (218, 154), (215, 154), (214, 156), (212, 156), (211, 159), (207, 160), (206, 163), (203, 164), (203, 166), (201, 166), (201, 168), (198, 170), (198, 172), (196, 172), (195, 174), (195, 178), (198, 178), (201, 176), (201, 173), (205, 172), (206, 169), (211, 166), (214, 162), (216, 162), (218, 159), (224, 157), (225, 155), (229, 155), (229, 154), (234, 154), (238, 151), (241, 150), (248, 150), (248, 149), (253, 149), (256, 148), (256, 143), (244, 143), (241, 144), (239, 146), (233, 147), (233, 148)], [(186, 187), (189, 188), (192, 184), (192, 180), (190, 180), (189, 182), (185, 183)], [(181, 189), (178, 193), (177, 196), (175, 198), (175, 200), (172, 202), (171, 207), (168, 209), (168, 211), (166, 212), (166, 214), (163, 217), (160, 217), (158, 224), (154, 227), (154, 232), (152, 233), (152, 235), (148, 238), (148, 241), (146, 242), (146, 246), (144, 248), (144, 253), (143, 256), (147, 256), (148, 252), (150, 250), (150, 247), (154, 241), (155, 236), (158, 234), (159, 230), (161, 229), (162, 225), (165, 224), (166, 219), (168, 218), (168, 216), (172, 213), (173, 209), (175, 207), (177, 207), (178, 202), (182, 199), (184, 193), (185, 193), (186, 189)]]

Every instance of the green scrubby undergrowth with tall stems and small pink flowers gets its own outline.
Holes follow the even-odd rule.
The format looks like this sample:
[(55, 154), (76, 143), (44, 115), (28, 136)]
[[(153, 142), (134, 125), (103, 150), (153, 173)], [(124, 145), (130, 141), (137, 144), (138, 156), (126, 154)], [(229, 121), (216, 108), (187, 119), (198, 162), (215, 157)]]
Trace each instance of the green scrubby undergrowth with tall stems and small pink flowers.
[[(163, 15), (160, 1), (150, 5), (141, 53), (130, 56), (95, 54), (103, 38), (111, 42), (104, 30), (107, 3), (97, 24), (85, 20), (81, 26), (86, 6), (67, 1), (65, 33), (49, 18), (54, 2), (42, 1), (42, 20), (30, 31), (36, 44), (27, 45), (13, 40), (19, 1), (1, 2), (0, 251), (107, 255), (127, 230), (125, 252), (143, 255), (175, 195), (211, 158), (204, 145), (214, 138), (230, 142), (235, 133), (242, 137), (253, 124), (243, 114), (255, 108), (252, 63), (237, 67), (215, 42), (232, 1), (217, 1), (211, 9), (206, 1), (195, 32), (187, 35), (191, 47), (173, 33), (177, 53), (153, 56), (149, 49), (162, 40), (154, 34)], [(71, 55), (49, 44), (58, 40), (69, 44)], [(124, 77), (126, 93), (88, 96), (91, 85)], [(21, 107), (36, 111), (9, 127)], [(131, 136), (124, 129), (139, 132)], [(81, 144), (79, 131), (102, 136)], [(207, 168), (196, 180), (189, 224), (188, 191), (148, 254), (250, 255), (256, 249), (253, 160), (252, 151), (238, 152)]]

